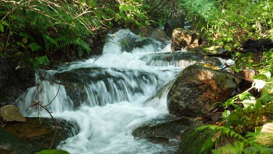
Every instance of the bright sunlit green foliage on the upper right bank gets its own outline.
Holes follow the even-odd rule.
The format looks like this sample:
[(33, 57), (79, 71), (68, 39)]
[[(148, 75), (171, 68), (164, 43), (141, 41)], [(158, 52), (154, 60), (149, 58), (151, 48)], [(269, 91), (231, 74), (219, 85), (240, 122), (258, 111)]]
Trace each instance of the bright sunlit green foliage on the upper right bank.
[(203, 32), (210, 44), (230, 48), (236, 57), (237, 49), (248, 39), (272, 37), (272, 1), (218, 1), (217, 7), (204, 16), (207, 25)]

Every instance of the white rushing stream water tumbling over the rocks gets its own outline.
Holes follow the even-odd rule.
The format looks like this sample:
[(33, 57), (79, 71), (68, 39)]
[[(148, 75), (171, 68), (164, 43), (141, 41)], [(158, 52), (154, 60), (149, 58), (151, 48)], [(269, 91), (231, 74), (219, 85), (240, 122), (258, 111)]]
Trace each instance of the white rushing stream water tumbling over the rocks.
[[(39, 99), (45, 105), (58, 93), (49, 109), (55, 117), (74, 121), (80, 128), (74, 130), (79, 131), (78, 134), (74, 133), (58, 145), (60, 149), (70, 153), (175, 151), (175, 146), (155, 144), (131, 135), (131, 131), (142, 123), (168, 114), (168, 85), (183, 67), (175, 67), (175, 58), (168, 62), (164, 58), (154, 59), (153, 62), (153, 56), (171, 52), (170, 44), (120, 30), (109, 34), (103, 52), (99, 58), (37, 73), (39, 86), (28, 89), (17, 100), (22, 113), (37, 116), (37, 107), (29, 107), (31, 102)], [(179, 63), (187, 66), (193, 62)], [(44, 110), (39, 113), (48, 117)]]

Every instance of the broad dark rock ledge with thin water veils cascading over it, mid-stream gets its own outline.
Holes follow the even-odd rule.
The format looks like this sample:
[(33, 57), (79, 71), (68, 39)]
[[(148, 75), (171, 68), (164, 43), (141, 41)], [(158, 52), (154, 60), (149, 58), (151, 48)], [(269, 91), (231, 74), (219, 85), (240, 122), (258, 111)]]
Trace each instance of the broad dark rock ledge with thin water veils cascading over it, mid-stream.
[[(158, 76), (154, 73), (119, 68), (79, 68), (57, 73), (55, 77), (65, 85), (75, 109), (83, 102), (104, 106), (107, 103), (132, 101), (134, 98), (128, 93), (143, 94), (145, 87), (142, 86), (158, 84)], [(135, 82), (132, 84), (131, 81)]]

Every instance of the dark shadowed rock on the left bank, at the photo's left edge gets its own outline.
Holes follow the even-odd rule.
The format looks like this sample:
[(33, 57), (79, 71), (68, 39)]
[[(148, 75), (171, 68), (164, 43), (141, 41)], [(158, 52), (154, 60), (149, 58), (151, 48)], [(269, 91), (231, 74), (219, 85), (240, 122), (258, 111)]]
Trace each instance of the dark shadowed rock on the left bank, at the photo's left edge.
[(34, 85), (34, 68), (29, 53), (0, 58), (0, 107), (13, 104), (28, 87)]

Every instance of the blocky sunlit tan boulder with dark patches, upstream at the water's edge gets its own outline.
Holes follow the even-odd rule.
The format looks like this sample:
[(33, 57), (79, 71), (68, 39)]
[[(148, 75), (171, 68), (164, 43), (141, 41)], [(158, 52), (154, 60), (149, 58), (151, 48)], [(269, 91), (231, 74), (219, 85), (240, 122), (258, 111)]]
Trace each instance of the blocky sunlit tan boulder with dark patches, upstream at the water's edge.
[(196, 48), (203, 46), (201, 35), (197, 31), (175, 28), (171, 37), (171, 50), (178, 51), (183, 48)]

